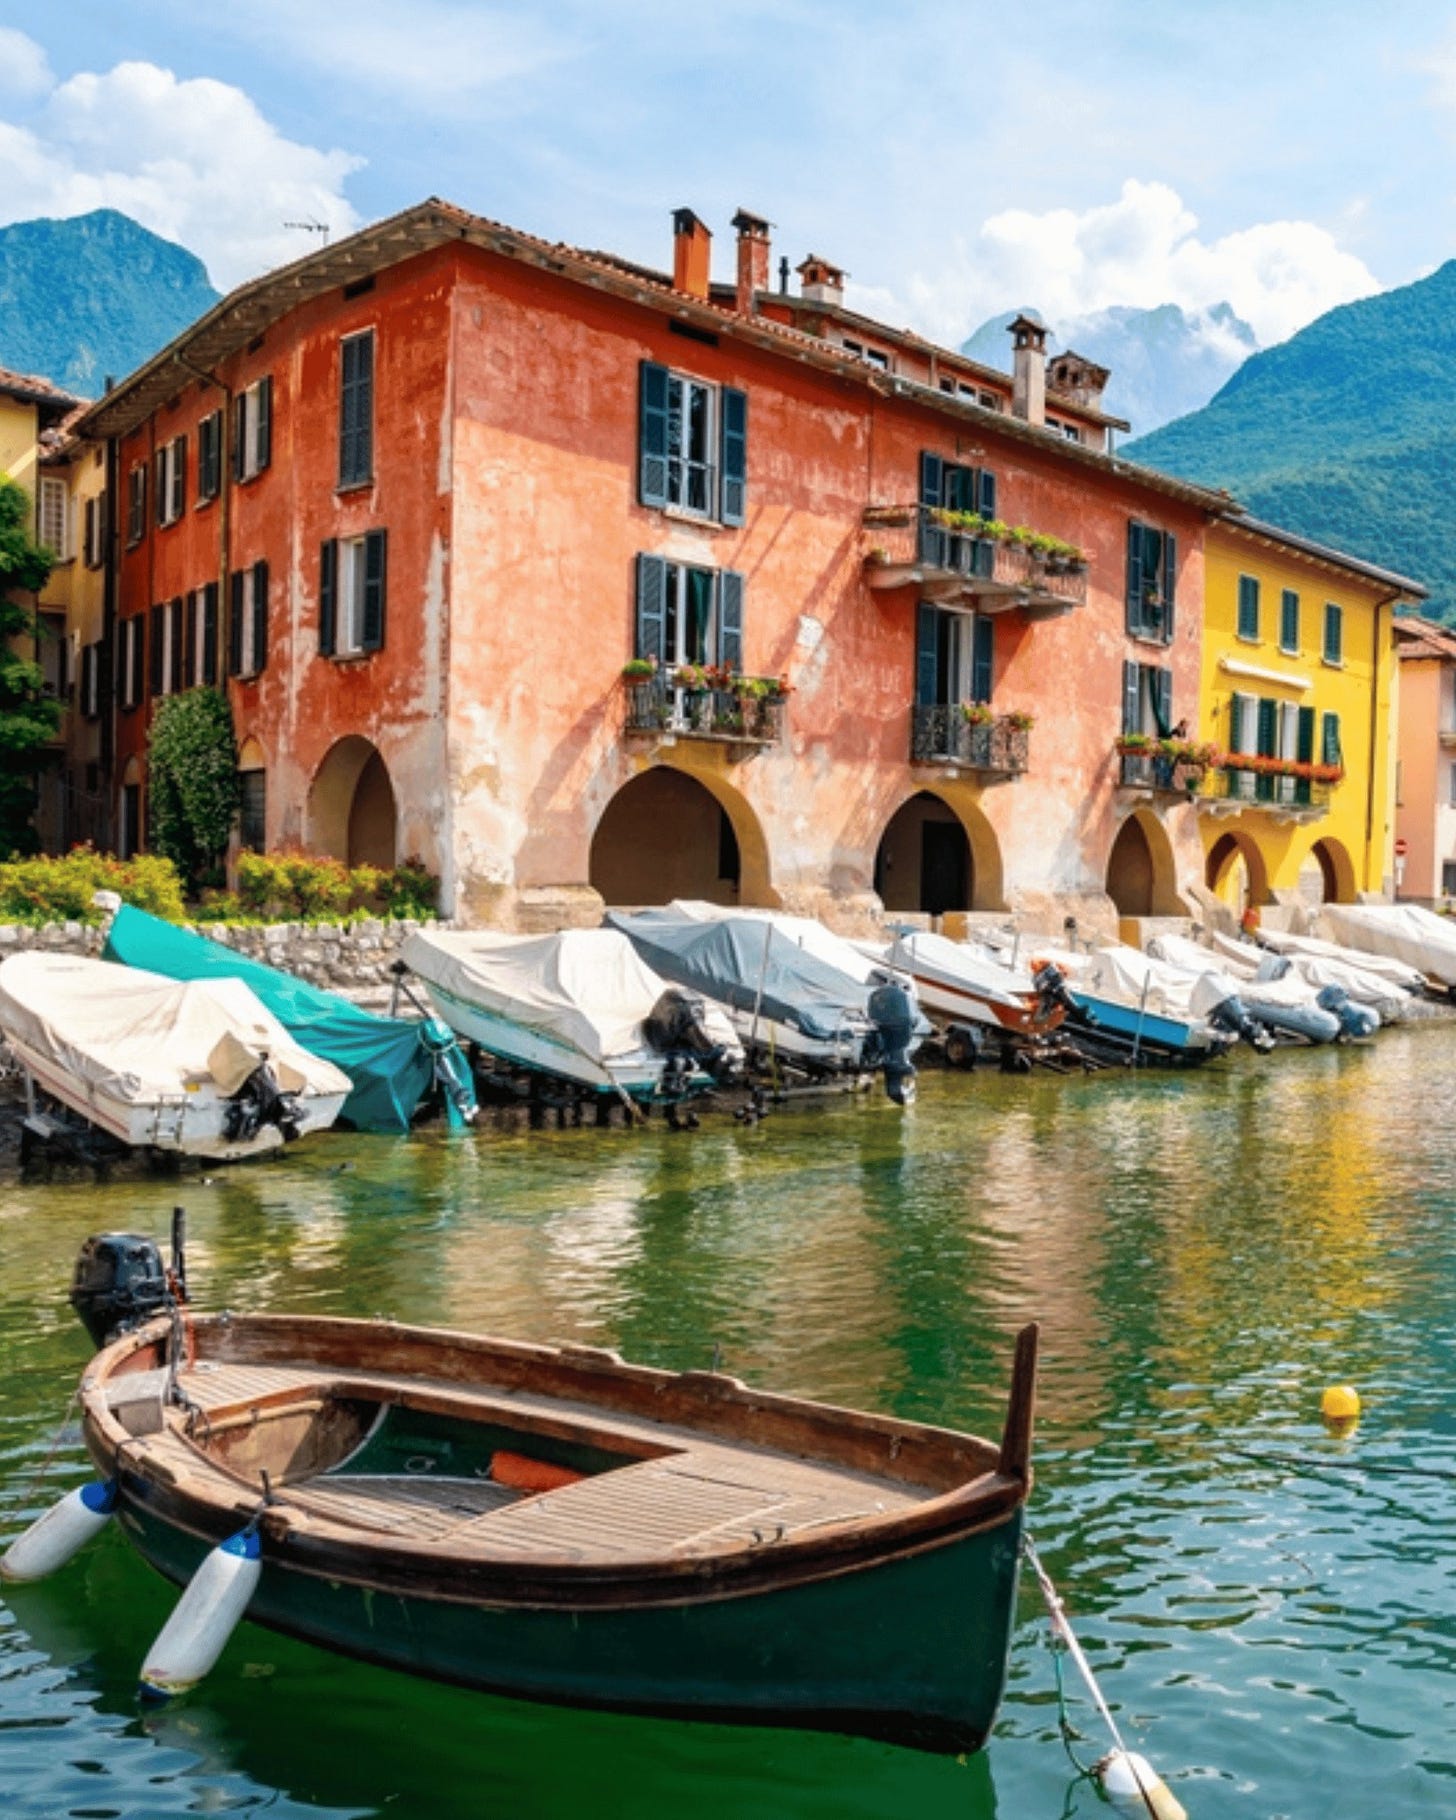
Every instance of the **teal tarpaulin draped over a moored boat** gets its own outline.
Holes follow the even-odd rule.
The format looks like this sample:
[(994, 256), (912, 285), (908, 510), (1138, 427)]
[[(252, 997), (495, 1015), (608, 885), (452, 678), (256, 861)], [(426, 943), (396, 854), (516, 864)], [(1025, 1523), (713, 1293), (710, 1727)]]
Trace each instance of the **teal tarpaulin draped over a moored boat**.
[(162, 923), (131, 905), (116, 912), (104, 956), (167, 979), (244, 979), (295, 1041), (353, 1081), (340, 1117), (357, 1130), (410, 1130), (415, 1108), (430, 1092), (435, 1052), (417, 1019), (380, 1017), (337, 992), (248, 961), (218, 941)]

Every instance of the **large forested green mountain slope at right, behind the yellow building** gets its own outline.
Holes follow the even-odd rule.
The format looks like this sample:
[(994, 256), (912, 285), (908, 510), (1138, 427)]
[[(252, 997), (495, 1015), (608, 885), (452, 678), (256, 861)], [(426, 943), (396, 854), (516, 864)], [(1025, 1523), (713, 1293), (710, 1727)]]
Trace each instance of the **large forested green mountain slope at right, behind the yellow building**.
[(1456, 619), (1456, 260), (1256, 353), (1130, 460), (1227, 486), (1259, 517), (1412, 575)]

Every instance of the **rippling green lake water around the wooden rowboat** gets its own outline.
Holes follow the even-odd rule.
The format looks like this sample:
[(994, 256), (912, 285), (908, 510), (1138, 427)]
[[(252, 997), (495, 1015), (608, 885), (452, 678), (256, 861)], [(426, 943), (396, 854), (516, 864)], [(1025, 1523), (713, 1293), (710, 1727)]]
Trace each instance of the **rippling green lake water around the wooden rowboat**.
[[(877, 1094), (757, 1128), (326, 1136), (180, 1185), (7, 1179), (0, 1531), (86, 1476), (60, 1429), (87, 1356), (76, 1247), (162, 1236), (178, 1199), (211, 1307), (673, 1369), (721, 1347), (757, 1385), (988, 1434), (1037, 1318), (1030, 1527), (1192, 1820), (1452, 1815), (1452, 1132), (1456, 1030), (1418, 1028), (1187, 1077), (928, 1076), (906, 1114)], [(1338, 1381), (1365, 1400), (1345, 1440), (1318, 1412)], [(1110, 1813), (1061, 1747), (1030, 1582), (1001, 1724), (965, 1764), (495, 1700), (251, 1625), (197, 1693), (142, 1711), (173, 1598), (116, 1532), (5, 1591), (5, 1820)], [(1085, 1698), (1074, 1718), (1101, 1754)]]

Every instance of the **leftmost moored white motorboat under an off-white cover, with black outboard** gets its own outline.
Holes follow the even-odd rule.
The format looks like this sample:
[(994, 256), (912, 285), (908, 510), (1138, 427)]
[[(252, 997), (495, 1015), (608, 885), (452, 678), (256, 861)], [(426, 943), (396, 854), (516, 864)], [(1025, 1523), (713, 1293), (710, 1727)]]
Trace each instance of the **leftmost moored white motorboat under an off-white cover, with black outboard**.
[(351, 1087), (240, 979), (15, 954), (0, 965), (0, 1032), (35, 1087), (98, 1130), (213, 1161), (326, 1130)]

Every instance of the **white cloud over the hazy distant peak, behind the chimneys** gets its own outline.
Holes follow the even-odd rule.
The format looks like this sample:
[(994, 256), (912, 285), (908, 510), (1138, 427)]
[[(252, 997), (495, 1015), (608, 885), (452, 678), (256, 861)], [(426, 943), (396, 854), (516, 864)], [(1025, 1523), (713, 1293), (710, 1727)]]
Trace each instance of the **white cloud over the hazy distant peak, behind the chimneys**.
[(872, 300), (908, 311), (939, 340), (959, 340), (1008, 306), (1032, 304), (1057, 322), (1110, 304), (1199, 311), (1228, 302), (1267, 348), (1378, 289), (1367, 266), (1314, 222), (1259, 222), (1203, 240), (1174, 189), (1130, 178), (1101, 207), (992, 215), (970, 242), (950, 242), (937, 273), (912, 277), (899, 300), (885, 291)]

